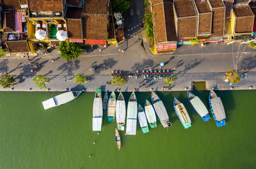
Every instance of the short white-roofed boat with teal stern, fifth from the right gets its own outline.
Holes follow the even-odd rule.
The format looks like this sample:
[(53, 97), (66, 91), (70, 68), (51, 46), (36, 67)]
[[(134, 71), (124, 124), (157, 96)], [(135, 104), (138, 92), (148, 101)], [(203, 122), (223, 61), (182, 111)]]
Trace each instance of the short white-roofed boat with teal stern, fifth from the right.
[(157, 126), (156, 112), (155, 112), (153, 106), (151, 105), (151, 103), (147, 99), (145, 101), (145, 113), (146, 113), (146, 117), (148, 119), (148, 124), (149, 124), (150, 128), (156, 128), (156, 126)]

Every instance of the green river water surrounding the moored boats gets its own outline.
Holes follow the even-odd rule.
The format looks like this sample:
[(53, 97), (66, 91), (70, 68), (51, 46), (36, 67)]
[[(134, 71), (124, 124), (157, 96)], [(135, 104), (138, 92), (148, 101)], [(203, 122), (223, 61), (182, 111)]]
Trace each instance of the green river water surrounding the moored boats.
[[(209, 91), (193, 92), (209, 108)], [(1, 169), (87, 168), (256, 168), (256, 91), (216, 91), (227, 115), (227, 126), (204, 122), (191, 107), (186, 92), (157, 92), (173, 126), (136, 136), (121, 133), (115, 145), (116, 122), (104, 119), (102, 131), (92, 131), (92, 92), (44, 110), (42, 101), (59, 92), (1, 92)], [(126, 101), (131, 93), (124, 93)], [(117, 93), (116, 93), (117, 95)], [(173, 109), (173, 96), (187, 108), (192, 126), (184, 129)], [(147, 92), (136, 92), (144, 105)], [(106, 117), (106, 114), (105, 114)], [(95, 144), (93, 144), (93, 141)], [(92, 154), (92, 158), (88, 158)]]

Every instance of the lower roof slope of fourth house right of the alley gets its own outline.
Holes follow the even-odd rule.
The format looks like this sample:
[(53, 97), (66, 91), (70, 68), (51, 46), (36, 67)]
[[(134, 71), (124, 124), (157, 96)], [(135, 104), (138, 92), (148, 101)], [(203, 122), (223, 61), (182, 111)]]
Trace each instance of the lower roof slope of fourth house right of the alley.
[(212, 11), (212, 36), (223, 36), (225, 8), (214, 8)]

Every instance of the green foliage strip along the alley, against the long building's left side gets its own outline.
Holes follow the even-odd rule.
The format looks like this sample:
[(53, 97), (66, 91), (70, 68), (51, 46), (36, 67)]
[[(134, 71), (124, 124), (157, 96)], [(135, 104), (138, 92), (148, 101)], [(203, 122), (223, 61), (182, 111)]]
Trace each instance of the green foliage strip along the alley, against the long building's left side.
[(145, 24), (146, 28), (146, 38), (148, 39), (150, 45), (154, 44), (154, 27), (153, 27), (153, 14), (150, 11), (150, 13), (145, 13), (143, 17), (143, 22)]

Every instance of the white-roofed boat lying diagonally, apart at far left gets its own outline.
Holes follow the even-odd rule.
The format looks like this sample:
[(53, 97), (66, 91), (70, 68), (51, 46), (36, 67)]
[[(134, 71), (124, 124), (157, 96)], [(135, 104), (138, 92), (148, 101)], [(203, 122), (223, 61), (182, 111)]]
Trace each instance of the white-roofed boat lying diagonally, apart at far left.
[(72, 101), (73, 99), (76, 99), (81, 94), (81, 92), (82, 91), (64, 92), (51, 99), (47, 99), (42, 102), (44, 110), (52, 107), (58, 107), (60, 105), (67, 103), (68, 101)]

